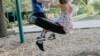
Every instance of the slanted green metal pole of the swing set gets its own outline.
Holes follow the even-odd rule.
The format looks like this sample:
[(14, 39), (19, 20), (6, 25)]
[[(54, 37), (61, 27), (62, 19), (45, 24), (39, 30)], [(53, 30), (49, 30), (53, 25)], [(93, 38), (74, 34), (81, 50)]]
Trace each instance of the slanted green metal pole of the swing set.
[(15, 0), (16, 2), (16, 10), (17, 10), (17, 18), (18, 18), (18, 26), (19, 26), (19, 33), (20, 33), (20, 42), (24, 42), (24, 33), (22, 28), (22, 17), (21, 17), (21, 11), (20, 11), (20, 0)]

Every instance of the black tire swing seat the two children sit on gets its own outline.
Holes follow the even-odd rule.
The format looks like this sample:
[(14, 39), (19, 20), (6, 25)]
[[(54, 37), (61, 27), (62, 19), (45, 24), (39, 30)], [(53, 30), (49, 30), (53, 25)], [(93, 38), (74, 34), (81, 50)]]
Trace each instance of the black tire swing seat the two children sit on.
[(56, 32), (59, 34), (66, 34), (62, 26), (60, 26), (58, 23), (54, 23), (50, 19), (32, 16), (30, 18), (30, 22), (49, 31)]

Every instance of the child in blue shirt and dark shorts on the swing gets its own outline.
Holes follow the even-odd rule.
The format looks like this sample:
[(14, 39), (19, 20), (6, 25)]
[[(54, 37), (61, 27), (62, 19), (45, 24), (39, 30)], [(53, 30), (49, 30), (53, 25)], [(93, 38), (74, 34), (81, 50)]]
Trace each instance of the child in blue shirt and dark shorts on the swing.
[[(47, 19), (45, 12), (44, 12), (44, 6), (43, 4), (48, 3), (49, 0), (32, 0), (32, 16), (35, 17), (41, 17)], [(31, 18), (30, 18), (31, 19)], [(45, 29), (43, 29), (43, 32), (47, 32)], [(41, 35), (37, 38), (37, 40), (45, 40), (44, 33), (41, 33)], [(42, 44), (37, 43), (38, 47), (42, 46)], [(43, 51), (43, 49), (41, 49)]]

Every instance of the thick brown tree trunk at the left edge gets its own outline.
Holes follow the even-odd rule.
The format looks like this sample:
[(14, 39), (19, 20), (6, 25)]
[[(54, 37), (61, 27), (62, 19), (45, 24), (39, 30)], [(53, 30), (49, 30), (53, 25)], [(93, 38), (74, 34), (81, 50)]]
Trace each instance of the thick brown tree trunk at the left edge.
[(5, 36), (7, 36), (7, 29), (4, 19), (2, 0), (0, 0), (0, 37), (5, 37)]

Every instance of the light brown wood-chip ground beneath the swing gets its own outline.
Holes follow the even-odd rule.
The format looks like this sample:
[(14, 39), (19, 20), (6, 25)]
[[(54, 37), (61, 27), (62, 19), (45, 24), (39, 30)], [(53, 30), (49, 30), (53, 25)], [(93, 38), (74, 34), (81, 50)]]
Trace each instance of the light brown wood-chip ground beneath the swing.
[(44, 42), (44, 52), (35, 44), (39, 35), (25, 34), (23, 44), (18, 34), (0, 38), (0, 56), (100, 56), (100, 28), (75, 29), (73, 34), (67, 35), (56, 34), (56, 40)]

